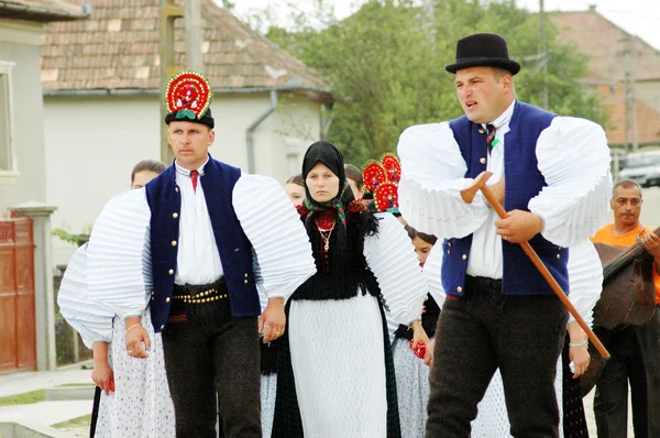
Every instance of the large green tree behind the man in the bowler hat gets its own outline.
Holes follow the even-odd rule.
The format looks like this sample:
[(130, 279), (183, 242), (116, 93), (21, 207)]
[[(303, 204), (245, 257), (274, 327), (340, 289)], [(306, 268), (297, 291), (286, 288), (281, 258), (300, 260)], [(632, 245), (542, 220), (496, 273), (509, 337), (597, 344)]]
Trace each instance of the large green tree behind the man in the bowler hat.
[[(332, 83), (338, 101), (328, 140), (348, 162), (362, 164), (394, 151), (411, 124), (462, 114), (444, 66), (453, 62), (457, 40), (474, 32), (507, 40), (510, 56), (522, 65), (518, 98), (541, 102), (539, 17), (514, 0), (439, 0), (432, 14), (413, 0), (372, 0), (342, 21), (323, 7), (327, 1), (319, 3), (316, 13), (298, 14), (293, 31), (272, 26), (266, 37)], [(576, 83), (586, 73), (586, 57), (560, 43), (550, 21), (547, 33), (548, 109), (605, 122), (600, 96)]]

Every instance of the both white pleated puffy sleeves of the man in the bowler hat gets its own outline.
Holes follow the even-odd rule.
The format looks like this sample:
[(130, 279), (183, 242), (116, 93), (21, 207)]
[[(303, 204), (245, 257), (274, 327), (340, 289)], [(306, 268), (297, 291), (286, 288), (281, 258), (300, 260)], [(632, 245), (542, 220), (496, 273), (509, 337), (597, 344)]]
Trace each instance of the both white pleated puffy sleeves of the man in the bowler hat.
[[(463, 177), (468, 166), (449, 122), (408, 128), (399, 139), (398, 154), (399, 209), (408, 223), (440, 239), (493, 227), (492, 210), (481, 193), (472, 204), (461, 198), (460, 191), (474, 179)], [(606, 220), (610, 196), (605, 132), (585, 119), (557, 117), (539, 135), (536, 155), (548, 186), (530, 199), (528, 208), (543, 219), (542, 236), (560, 247), (590, 238)], [(504, 160), (504, 155), (492, 158)], [(502, 258), (502, 252), (496, 256)], [(502, 277), (501, 267), (491, 274)]]

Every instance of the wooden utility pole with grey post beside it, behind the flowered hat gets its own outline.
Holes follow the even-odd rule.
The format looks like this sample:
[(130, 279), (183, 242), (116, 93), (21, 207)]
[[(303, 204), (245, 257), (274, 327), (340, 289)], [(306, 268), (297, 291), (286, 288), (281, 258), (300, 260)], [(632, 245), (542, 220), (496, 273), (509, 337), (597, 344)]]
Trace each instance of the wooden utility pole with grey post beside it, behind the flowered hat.
[[(184, 10), (185, 8), (185, 10)], [(161, 90), (167, 86), (167, 80), (174, 75), (178, 67), (174, 52), (174, 22), (176, 19), (185, 19), (186, 30), (186, 67), (196, 72), (202, 72), (204, 61), (201, 57), (201, 4), (199, 0), (185, 0), (185, 7), (177, 6), (174, 0), (160, 0), (158, 31), (160, 31), (160, 61), (161, 61)], [(170, 163), (174, 160), (169, 144), (167, 143), (167, 127), (163, 120), (167, 116), (167, 107), (161, 98), (161, 161)]]

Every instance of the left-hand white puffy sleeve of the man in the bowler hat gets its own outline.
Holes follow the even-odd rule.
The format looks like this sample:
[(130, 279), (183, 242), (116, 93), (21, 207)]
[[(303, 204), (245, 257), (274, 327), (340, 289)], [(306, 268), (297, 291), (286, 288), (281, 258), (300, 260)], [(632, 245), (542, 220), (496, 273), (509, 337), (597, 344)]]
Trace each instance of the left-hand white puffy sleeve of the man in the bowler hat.
[(439, 239), (463, 238), (479, 229), (490, 208), (481, 191), (465, 204), (461, 190), (468, 165), (448, 122), (408, 128), (399, 139), (399, 210), (408, 223)]

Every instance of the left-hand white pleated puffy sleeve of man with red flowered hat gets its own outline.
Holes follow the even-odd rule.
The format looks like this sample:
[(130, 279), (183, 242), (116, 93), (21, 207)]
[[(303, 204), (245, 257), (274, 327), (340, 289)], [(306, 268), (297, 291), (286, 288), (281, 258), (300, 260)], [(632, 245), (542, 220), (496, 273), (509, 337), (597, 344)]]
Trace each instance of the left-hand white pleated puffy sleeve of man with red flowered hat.
[(141, 316), (148, 304), (150, 220), (145, 190), (125, 191), (106, 204), (89, 238), (89, 297), (122, 319)]

